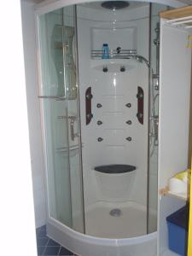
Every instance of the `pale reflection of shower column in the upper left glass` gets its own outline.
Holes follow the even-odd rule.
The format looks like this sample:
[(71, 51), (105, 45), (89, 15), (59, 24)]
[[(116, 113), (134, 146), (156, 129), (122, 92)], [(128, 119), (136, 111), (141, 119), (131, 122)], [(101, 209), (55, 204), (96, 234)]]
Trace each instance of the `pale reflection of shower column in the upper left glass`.
[(67, 99), (76, 99), (74, 27), (55, 24), (51, 36), (51, 43), (51, 54), (58, 79), (57, 95), (67, 96)]

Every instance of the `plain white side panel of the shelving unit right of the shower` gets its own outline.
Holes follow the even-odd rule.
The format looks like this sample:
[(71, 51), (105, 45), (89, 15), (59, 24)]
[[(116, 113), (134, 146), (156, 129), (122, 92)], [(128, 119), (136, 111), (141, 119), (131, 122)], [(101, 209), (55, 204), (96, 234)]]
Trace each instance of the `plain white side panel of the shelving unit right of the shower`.
[[(188, 166), (191, 70), (191, 50), (186, 47), (188, 34), (181, 28), (166, 26), (165, 20), (161, 20), (159, 189)], [(167, 249), (166, 217), (183, 203), (169, 196), (159, 201), (158, 255)]]

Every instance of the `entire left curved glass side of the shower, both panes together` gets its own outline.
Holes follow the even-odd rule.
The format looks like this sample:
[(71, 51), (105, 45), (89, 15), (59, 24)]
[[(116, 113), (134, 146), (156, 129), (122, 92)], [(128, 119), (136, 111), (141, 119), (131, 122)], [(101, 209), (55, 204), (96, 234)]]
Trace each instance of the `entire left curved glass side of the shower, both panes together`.
[(75, 7), (38, 16), (49, 217), (84, 232)]

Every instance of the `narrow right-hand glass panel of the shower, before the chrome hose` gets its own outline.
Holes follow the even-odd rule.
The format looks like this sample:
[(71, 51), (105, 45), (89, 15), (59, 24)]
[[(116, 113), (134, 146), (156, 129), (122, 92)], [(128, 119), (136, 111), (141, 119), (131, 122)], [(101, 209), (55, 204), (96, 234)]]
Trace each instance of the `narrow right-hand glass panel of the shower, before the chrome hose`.
[(159, 123), (159, 67), (160, 16), (165, 5), (150, 4), (150, 102), (149, 102), (149, 161), (148, 161), (148, 233), (157, 230), (158, 181), (158, 123)]

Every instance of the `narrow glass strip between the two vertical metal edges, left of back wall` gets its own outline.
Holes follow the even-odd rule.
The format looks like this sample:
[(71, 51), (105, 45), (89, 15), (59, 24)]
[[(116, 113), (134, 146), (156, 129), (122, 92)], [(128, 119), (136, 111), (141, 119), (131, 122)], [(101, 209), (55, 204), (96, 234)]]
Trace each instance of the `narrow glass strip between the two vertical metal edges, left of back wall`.
[(72, 185), (73, 229), (84, 232), (84, 202), (81, 167), (81, 141), (79, 127), (78, 65), (76, 44), (76, 10), (74, 6), (63, 9), (65, 81), (69, 130), (69, 158)]

